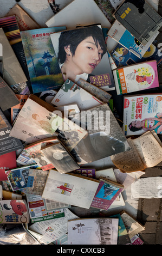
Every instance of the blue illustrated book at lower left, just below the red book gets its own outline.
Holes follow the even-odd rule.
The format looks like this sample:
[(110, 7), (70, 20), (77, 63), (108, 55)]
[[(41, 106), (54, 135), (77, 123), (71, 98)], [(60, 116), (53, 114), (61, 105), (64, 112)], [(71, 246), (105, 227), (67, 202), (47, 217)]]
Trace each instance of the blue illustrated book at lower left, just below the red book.
[(39, 168), (39, 166), (37, 164), (33, 164), (32, 166), (23, 166), (5, 171), (12, 191), (21, 190), (27, 187), (30, 168)]

